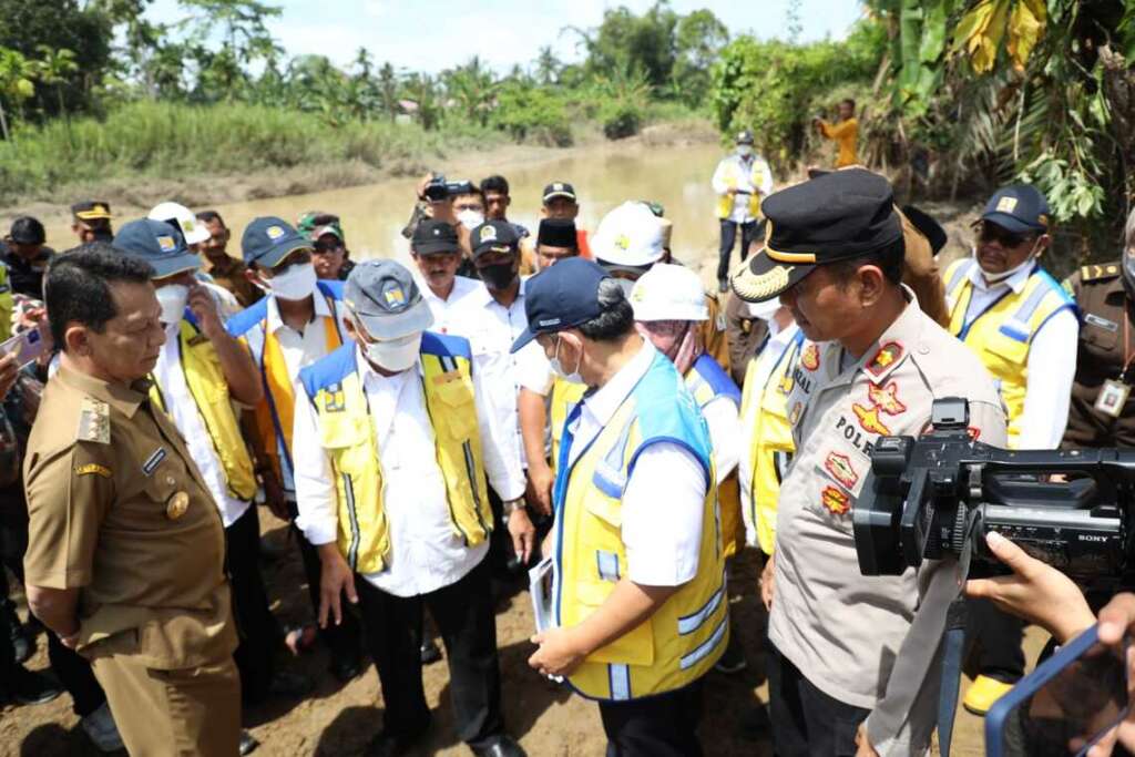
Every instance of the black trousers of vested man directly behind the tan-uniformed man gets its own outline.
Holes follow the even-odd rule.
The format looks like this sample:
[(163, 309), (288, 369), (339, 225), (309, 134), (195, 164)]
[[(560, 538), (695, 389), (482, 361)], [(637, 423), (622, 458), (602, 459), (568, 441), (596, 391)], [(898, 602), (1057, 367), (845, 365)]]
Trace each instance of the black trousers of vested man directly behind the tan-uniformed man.
[(225, 529), (225, 555), (233, 617), (241, 637), (233, 662), (241, 674), (245, 701), (260, 701), (268, 696), (283, 633), (268, 608), (268, 591), (260, 574), (260, 514), (255, 504)]

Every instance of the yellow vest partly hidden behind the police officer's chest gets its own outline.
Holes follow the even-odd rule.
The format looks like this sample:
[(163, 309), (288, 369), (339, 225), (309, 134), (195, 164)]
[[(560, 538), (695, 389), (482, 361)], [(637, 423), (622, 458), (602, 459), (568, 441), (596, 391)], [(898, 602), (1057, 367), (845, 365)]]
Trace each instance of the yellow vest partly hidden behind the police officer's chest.
[[(792, 367), (796, 365), (804, 343), (804, 334), (797, 333), (764, 386), (756, 386), (756, 368), (759, 353), (749, 361), (745, 371), (745, 389), (741, 393), (741, 422), (751, 420), (751, 444), (747, 451), (753, 479), (745, 482), (748, 488), (749, 507), (743, 513), (745, 522), (757, 535), (757, 545), (766, 555), (773, 554), (776, 544), (776, 503), (780, 485), (788, 465), (796, 454), (792, 441), (792, 426), (788, 418), (788, 395), (792, 390)], [(753, 403), (759, 403), (754, 406)]]

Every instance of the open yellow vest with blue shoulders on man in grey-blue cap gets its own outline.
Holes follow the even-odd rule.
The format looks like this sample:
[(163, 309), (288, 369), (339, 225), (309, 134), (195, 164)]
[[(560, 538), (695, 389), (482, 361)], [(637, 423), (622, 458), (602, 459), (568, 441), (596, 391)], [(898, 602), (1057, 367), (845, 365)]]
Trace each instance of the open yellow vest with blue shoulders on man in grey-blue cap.
[[(427, 331), (421, 346), (426, 409), (434, 422), (453, 533), (466, 546), (493, 530), (466, 339)], [(355, 345), (300, 371), (319, 418), (318, 444), (331, 460), (338, 503), (338, 546), (351, 570), (378, 573), (390, 552), (382, 504), (382, 466), (375, 424), (358, 371)], [(314, 441), (314, 440), (312, 440)]]

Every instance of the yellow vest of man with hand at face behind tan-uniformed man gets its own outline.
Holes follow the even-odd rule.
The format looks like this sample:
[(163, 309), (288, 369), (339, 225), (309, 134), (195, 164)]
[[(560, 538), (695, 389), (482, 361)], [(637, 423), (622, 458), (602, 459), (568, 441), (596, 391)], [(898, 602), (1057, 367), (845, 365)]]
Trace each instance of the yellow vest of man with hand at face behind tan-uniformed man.
[[(212, 343), (188, 320), (183, 320), (177, 336), (178, 358), (185, 386), (193, 397), (213, 452), (225, 471), (228, 493), (236, 499), (250, 502), (257, 494), (257, 474), (252, 456), (241, 435), (241, 423), (233, 410), (228, 381), (220, 367), (220, 358)], [(154, 377), (150, 399), (167, 412), (166, 396)]]

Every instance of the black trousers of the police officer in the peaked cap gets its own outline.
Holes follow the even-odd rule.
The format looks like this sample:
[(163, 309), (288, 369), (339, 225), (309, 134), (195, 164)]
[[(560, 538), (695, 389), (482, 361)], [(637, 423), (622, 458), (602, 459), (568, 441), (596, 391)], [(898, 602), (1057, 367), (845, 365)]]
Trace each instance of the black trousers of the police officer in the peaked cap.
[(829, 697), (768, 645), (768, 720), (777, 757), (843, 757), (869, 709)]

